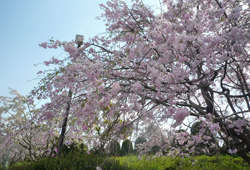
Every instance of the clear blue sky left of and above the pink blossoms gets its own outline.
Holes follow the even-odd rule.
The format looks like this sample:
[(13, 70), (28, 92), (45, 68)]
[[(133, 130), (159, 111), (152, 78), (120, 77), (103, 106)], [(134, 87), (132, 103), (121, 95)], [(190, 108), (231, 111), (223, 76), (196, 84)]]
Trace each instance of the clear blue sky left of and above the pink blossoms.
[[(131, 2), (131, 0), (125, 0)], [(34, 64), (58, 57), (63, 51), (43, 49), (38, 44), (54, 40), (71, 41), (76, 34), (85, 39), (105, 32), (96, 20), (107, 0), (1, 0), (0, 1), (0, 96), (8, 87), (27, 95), (37, 85), (37, 72), (46, 67)], [(145, 3), (155, 0), (145, 0)], [(59, 58), (66, 56), (63, 53)], [(32, 80), (35, 79), (35, 80)]]

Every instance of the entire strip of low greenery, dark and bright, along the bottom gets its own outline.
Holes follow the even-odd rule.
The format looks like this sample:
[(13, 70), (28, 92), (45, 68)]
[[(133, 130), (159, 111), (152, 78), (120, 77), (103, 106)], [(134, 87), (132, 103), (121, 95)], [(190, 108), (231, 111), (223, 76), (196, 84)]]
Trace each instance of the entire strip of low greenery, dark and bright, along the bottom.
[(14, 164), (8, 170), (248, 170), (250, 166), (241, 157), (231, 155), (197, 156), (197, 157), (153, 157), (137, 156), (108, 158), (97, 154), (70, 152), (60, 158), (43, 158), (37, 161)]

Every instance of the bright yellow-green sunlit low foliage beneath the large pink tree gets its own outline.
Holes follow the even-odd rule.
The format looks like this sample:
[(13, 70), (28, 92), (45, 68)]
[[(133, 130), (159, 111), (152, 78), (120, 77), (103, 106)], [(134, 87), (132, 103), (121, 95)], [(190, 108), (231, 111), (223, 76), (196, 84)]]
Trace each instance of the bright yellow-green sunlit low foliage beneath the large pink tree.
[[(118, 158), (117, 158), (118, 159)], [(180, 157), (152, 157), (143, 156), (139, 160), (136, 156), (120, 157), (120, 164), (133, 170), (247, 170), (250, 166), (242, 158), (233, 158), (230, 155), (198, 156), (189, 158)]]

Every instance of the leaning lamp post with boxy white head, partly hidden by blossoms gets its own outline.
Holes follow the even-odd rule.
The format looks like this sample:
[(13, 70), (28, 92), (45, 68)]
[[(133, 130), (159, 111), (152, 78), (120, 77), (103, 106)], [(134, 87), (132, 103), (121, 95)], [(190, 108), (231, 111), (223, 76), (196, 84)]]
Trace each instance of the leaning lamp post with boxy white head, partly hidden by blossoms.
[[(77, 43), (77, 48), (79, 48), (83, 44), (83, 35), (76, 35), (75, 41)], [(67, 107), (66, 107), (66, 114), (63, 120), (63, 125), (62, 125), (62, 130), (61, 130), (61, 135), (59, 138), (59, 145), (57, 148), (57, 157), (61, 155), (62, 152), (62, 146), (63, 146), (63, 141), (64, 141), (64, 136), (65, 132), (67, 129), (67, 122), (68, 122), (68, 116), (69, 116), (69, 111), (70, 111), (70, 104), (71, 104), (71, 99), (72, 99), (72, 92), (69, 90), (69, 101), (67, 102)]]

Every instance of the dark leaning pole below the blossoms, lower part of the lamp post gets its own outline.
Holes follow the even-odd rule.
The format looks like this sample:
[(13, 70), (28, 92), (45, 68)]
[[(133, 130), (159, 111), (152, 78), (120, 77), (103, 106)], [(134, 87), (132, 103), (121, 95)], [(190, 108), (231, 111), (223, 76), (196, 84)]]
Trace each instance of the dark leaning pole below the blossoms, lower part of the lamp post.
[(71, 97), (72, 97), (72, 92), (71, 92), (71, 90), (69, 90), (69, 101), (67, 102), (66, 114), (65, 114), (65, 118), (63, 120), (61, 135), (60, 135), (60, 138), (59, 138), (59, 145), (58, 145), (58, 148), (57, 148), (57, 157), (59, 157), (61, 155), (61, 152), (62, 152), (64, 135), (65, 135), (65, 132), (66, 132), (66, 129), (67, 129), (67, 121), (68, 121), (68, 115), (69, 115), (69, 110), (70, 110)]

